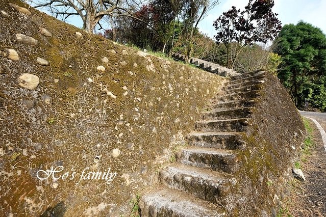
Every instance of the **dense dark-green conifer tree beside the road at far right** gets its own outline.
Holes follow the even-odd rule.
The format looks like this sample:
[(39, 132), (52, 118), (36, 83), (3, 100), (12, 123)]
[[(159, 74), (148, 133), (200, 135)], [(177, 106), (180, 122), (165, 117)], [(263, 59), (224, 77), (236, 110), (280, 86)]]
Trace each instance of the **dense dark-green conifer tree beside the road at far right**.
[(308, 96), (312, 84), (326, 76), (326, 36), (320, 29), (299, 21), (283, 27), (277, 46), (282, 56), (278, 76), (300, 107), (306, 98), (314, 98)]

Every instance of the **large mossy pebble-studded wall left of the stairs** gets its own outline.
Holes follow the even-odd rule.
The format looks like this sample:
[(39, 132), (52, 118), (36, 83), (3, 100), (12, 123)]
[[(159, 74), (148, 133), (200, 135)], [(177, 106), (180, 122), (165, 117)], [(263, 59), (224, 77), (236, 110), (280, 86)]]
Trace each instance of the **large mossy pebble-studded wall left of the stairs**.
[[(160, 156), (184, 143), (224, 79), (9, 3), (28, 7), (0, 2), (1, 213), (128, 215)], [(37, 75), (37, 87), (23, 73)], [(37, 178), (51, 167), (63, 171)], [(87, 175), (109, 168), (108, 184)]]

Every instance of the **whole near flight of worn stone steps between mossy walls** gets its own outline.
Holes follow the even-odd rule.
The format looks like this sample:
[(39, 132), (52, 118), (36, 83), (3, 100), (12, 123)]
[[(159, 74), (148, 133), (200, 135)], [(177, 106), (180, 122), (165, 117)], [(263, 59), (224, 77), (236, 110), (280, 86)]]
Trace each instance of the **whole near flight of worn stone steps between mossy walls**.
[(189, 146), (160, 171), (160, 187), (141, 198), (141, 216), (232, 216), (237, 206), (232, 195), (241, 191), (234, 175), (237, 153), (246, 148), (241, 135), (250, 125), (264, 77), (264, 71), (234, 76), (212, 99), (212, 111), (203, 113), (187, 135)]

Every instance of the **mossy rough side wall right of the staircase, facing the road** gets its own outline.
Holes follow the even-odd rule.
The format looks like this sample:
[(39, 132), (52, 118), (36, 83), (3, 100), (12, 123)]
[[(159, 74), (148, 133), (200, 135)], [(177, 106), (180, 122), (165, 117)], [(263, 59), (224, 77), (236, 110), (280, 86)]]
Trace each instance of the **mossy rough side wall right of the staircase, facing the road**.
[(279, 79), (266, 73), (240, 154), (239, 216), (276, 216), (305, 137), (301, 116)]

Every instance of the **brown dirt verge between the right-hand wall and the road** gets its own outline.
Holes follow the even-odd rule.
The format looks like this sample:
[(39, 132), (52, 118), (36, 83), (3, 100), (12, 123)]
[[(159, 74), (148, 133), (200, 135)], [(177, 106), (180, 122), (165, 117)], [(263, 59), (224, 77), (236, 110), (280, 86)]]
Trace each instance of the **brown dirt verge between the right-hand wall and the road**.
[(326, 216), (326, 152), (319, 130), (312, 121), (309, 123), (313, 145), (298, 161), (306, 181), (290, 183), (291, 195), (283, 201), (278, 217)]

